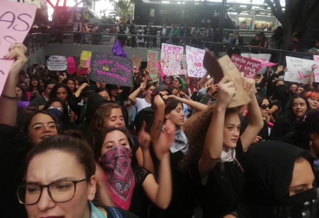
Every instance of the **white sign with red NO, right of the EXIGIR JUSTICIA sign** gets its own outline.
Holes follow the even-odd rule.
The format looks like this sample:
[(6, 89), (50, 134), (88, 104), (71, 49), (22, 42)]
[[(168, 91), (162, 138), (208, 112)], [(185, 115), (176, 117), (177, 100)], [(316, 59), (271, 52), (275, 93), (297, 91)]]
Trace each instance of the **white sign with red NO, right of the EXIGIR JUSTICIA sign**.
[(206, 69), (203, 65), (205, 50), (186, 45), (188, 77), (204, 77)]

